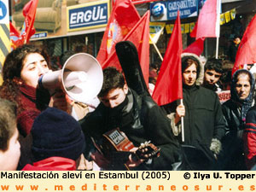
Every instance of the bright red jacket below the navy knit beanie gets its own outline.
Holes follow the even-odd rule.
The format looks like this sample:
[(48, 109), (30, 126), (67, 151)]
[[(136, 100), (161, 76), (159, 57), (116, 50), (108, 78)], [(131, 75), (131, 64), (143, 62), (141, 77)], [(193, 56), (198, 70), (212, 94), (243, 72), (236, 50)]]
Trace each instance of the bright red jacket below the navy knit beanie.
[(75, 171), (76, 162), (64, 157), (49, 157), (32, 165), (27, 164), (22, 171)]

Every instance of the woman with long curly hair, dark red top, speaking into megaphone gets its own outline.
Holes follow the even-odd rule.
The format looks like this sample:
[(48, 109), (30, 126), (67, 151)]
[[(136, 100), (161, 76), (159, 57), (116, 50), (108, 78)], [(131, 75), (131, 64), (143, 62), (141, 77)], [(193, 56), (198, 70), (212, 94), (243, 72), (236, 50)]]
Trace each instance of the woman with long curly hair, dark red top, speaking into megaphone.
[[(47, 90), (38, 89), (39, 77), (49, 72), (48, 58), (44, 49), (25, 44), (12, 50), (6, 56), (3, 64), (3, 84), (0, 87), (0, 96), (15, 102), (18, 107), (17, 126), (21, 140), (20, 160), (22, 160), (22, 150), (28, 152), (28, 148), (30, 148), (29, 143), (32, 141), (28, 137), (30, 137), (29, 133), (34, 119), (44, 108), (51, 105), (51, 107), (62, 109), (67, 113), (71, 112), (70, 101), (63, 91), (60, 90), (50, 97)], [(26, 142), (22, 146), (23, 141)], [(26, 154), (26, 159), (28, 155)]]

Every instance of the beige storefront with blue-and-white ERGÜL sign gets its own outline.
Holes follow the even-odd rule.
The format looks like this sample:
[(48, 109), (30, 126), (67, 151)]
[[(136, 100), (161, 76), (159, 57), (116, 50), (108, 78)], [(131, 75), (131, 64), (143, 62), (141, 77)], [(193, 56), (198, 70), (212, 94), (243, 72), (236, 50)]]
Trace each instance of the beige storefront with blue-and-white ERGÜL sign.
[[(22, 9), (27, 2), (12, 2), (12, 19), (19, 30), (24, 22)], [(67, 51), (96, 56), (109, 14), (108, 0), (39, 0), (34, 22), (36, 34), (30, 42), (48, 49), (54, 67)]]

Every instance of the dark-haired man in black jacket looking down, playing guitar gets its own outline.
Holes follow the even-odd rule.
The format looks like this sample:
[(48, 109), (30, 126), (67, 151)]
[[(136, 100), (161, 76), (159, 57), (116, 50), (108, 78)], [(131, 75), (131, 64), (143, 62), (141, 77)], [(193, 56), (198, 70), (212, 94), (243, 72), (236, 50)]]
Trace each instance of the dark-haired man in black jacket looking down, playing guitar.
[[(80, 121), (84, 136), (92, 137), (95, 143), (100, 143), (102, 134), (119, 127), (135, 147), (150, 140), (160, 148), (160, 157), (148, 160), (134, 160), (129, 155), (125, 160), (128, 169), (172, 170), (172, 163), (178, 161), (180, 152), (166, 114), (150, 96), (138, 96), (135, 91), (130, 90), (122, 73), (115, 68), (106, 68), (103, 74), (103, 86), (98, 95), (101, 103), (94, 112), (88, 113)], [(91, 143), (87, 147), (85, 156), (96, 161), (98, 166), (120, 170), (106, 155), (95, 150)]]

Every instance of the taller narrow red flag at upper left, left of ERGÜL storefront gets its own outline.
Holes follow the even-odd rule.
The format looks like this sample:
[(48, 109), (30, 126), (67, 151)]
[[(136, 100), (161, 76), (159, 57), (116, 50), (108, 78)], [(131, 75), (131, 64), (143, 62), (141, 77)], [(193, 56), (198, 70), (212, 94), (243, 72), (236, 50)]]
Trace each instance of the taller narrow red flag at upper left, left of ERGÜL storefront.
[(36, 32), (34, 28), (34, 21), (37, 13), (37, 7), (38, 0), (31, 0), (30, 2), (26, 3), (23, 8), (23, 15), (25, 17), (25, 21), (22, 26), (20, 35), (24, 44), (26, 44), (26, 42), (28, 42), (32, 35)]

